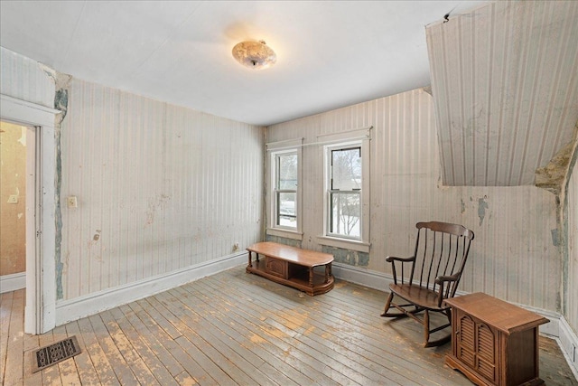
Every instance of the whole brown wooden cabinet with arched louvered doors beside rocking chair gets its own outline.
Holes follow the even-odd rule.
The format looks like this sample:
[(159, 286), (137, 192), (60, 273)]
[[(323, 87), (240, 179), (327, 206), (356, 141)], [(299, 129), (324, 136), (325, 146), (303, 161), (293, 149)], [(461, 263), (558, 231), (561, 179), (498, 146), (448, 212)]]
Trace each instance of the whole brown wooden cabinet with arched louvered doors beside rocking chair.
[(548, 319), (476, 293), (452, 306), (452, 354), (445, 363), (478, 385), (540, 385), (538, 325)]

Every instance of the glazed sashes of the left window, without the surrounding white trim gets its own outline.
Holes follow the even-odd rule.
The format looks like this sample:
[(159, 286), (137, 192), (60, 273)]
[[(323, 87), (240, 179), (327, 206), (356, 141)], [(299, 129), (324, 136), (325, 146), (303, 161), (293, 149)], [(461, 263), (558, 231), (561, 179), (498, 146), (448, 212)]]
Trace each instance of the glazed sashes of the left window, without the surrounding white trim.
[(275, 227), (297, 229), (297, 152), (275, 155)]

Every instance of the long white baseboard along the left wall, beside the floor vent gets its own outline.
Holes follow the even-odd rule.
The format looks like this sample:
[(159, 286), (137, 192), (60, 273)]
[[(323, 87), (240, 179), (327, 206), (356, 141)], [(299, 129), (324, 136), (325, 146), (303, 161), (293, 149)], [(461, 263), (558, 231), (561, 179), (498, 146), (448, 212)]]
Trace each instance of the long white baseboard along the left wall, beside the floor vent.
[(124, 286), (109, 288), (86, 297), (62, 300), (56, 303), (56, 325), (64, 325), (85, 316), (98, 314), (116, 306), (150, 297), (199, 278), (214, 275), (222, 270), (237, 267), (243, 263), (247, 263), (247, 252), (245, 251)]

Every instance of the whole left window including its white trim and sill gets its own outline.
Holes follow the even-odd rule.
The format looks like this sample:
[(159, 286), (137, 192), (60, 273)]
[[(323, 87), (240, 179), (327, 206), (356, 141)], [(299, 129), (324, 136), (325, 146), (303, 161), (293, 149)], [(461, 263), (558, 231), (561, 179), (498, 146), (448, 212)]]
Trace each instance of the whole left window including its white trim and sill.
[(301, 154), (303, 138), (266, 144), (268, 235), (302, 240)]

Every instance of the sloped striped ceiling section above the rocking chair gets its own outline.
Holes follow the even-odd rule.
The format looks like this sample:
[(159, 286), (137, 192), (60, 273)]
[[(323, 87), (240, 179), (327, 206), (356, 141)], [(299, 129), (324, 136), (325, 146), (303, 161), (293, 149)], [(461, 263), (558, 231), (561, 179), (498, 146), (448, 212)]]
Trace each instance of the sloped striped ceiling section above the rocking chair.
[(578, 2), (494, 2), (426, 37), (443, 184), (535, 184), (578, 120)]

